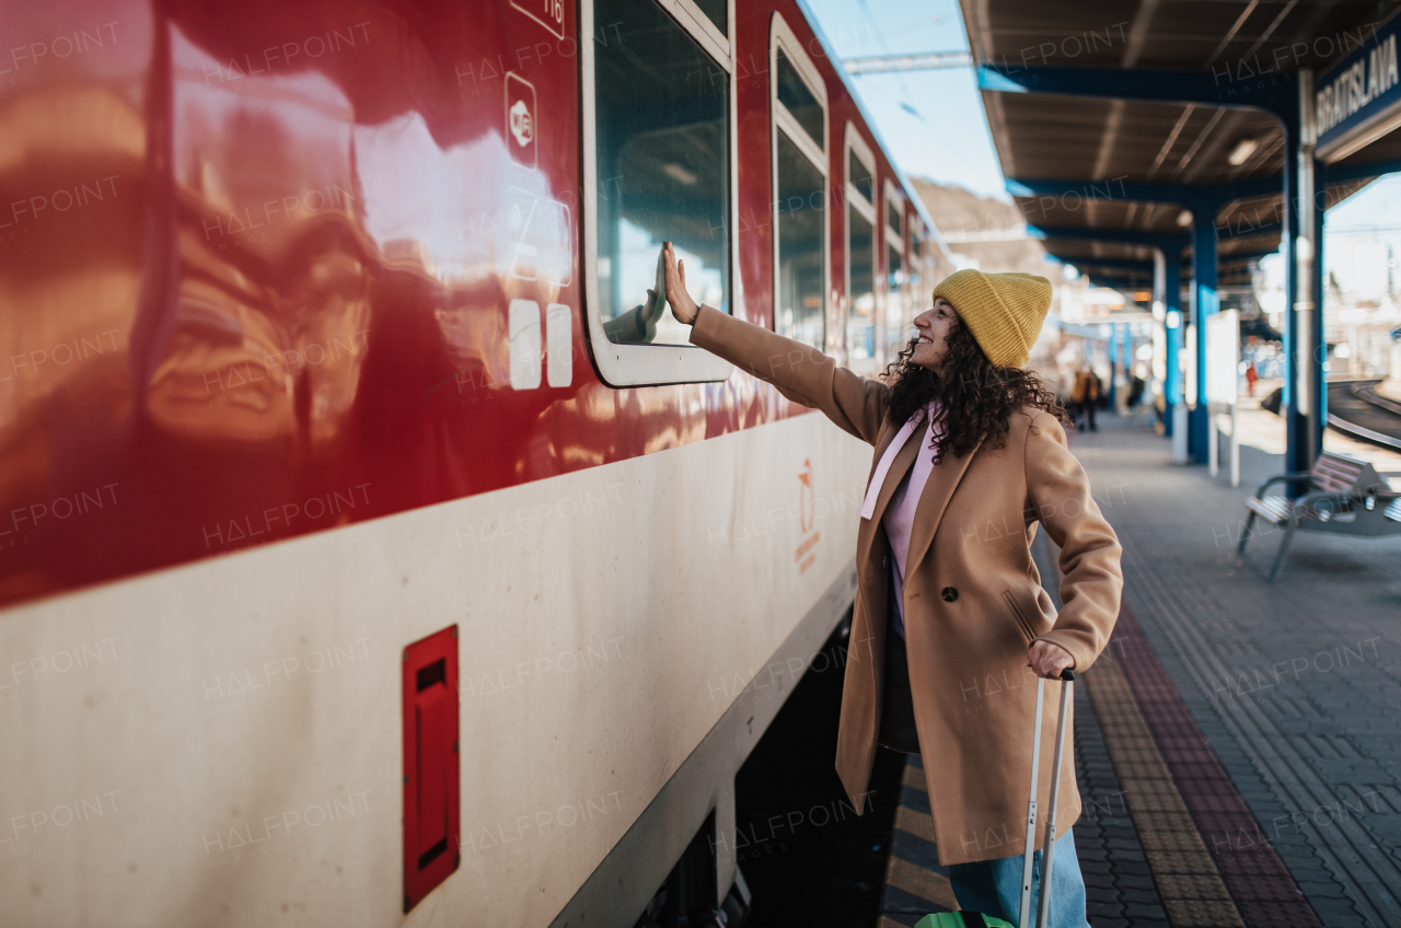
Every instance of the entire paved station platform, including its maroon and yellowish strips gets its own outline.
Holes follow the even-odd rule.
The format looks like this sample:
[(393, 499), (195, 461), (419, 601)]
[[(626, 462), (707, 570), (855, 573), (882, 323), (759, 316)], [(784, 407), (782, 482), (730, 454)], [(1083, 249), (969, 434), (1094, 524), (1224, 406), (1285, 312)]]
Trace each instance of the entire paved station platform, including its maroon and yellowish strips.
[[(1244, 500), (1283, 471), (1282, 422), (1245, 409), (1241, 435), (1231, 488), (1224, 468), (1171, 464), (1147, 416), (1072, 433), (1125, 572), (1111, 645), (1075, 694), (1094, 928), (1401, 924), (1401, 537), (1300, 534), (1267, 583), (1236, 545)], [(1401, 454), (1332, 430), (1325, 447), (1401, 486)], [(1276, 544), (1250, 562), (1268, 572)], [(955, 907), (932, 838), (911, 756), (880, 928)]]

